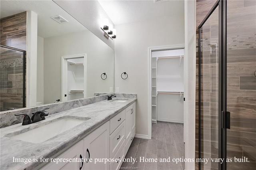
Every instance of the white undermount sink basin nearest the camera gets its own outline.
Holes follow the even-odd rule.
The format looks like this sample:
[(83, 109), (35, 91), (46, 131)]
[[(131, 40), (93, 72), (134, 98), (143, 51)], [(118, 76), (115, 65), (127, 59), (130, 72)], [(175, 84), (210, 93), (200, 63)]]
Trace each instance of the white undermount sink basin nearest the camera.
[(44, 142), (58, 134), (65, 132), (81, 123), (87, 121), (88, 117), (63, 116), (50, 121), (45, 121), (35, 125), (34, 128), (28, 127), (20, 131), (6, 134), (5, 137), (23, 140), (31, 143)]

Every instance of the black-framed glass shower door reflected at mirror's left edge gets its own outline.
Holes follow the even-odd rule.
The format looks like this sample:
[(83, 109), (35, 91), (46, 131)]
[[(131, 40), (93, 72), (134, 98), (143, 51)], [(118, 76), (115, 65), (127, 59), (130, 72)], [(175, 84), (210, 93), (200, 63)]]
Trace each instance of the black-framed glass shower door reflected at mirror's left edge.
[(26, 107), (25, 52), (0, 47), (0, 111)]

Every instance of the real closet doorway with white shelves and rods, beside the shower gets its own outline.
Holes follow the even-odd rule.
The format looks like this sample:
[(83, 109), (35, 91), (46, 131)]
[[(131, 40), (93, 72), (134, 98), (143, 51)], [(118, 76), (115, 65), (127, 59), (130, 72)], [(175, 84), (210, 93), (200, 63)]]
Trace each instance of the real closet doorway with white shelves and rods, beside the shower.
[(152, 123), (185, 124), (184, 45), (149, 47), (149, 96), (150, 137)]

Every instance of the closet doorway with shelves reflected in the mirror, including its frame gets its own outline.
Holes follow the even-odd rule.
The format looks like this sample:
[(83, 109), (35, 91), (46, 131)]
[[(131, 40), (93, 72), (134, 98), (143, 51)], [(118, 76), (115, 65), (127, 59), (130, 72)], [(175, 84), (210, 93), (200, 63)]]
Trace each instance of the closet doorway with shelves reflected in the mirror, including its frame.
[(86, 54), (62, 57), (62, 101), (86, 98)]

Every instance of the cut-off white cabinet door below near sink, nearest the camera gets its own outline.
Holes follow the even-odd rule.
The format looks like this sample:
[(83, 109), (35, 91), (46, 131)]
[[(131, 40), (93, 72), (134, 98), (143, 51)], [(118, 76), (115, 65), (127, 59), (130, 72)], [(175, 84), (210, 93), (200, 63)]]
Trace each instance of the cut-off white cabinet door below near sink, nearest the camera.
[[(66, 152), (58, 156), (57, 158), (83, 158), (84, 157), (84, 140), (81, 140)], [(42, 170), (84, 170), (84, 162), (50, 162), (42, 168)]]

